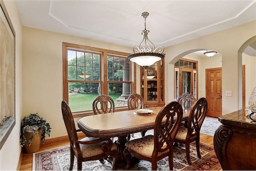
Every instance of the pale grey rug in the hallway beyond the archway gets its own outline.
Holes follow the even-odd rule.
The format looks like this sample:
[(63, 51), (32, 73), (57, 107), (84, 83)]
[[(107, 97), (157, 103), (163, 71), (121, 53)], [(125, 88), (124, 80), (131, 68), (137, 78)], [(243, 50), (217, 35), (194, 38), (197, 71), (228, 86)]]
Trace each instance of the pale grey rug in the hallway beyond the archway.
[(214, 136), (216, 129), (218, 129), (220, 125), (221, 123), (218, 121), (218, 118), (206, 116), (200, 129), (200, 133)]

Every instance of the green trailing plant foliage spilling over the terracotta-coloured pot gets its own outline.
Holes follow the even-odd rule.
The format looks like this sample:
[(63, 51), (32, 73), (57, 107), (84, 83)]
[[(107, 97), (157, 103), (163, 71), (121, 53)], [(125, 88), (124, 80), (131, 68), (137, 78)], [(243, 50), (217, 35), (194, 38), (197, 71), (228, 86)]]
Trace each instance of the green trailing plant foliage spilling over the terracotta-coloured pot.
[(36, 131), (42, 130), (42, 136), (41, 136), (41, 141), (44, 143), (44, 138), (45, 134), (50, 137), (51, 133), (51, 127), (50, 124), (46, 122), (42, 117), (38, 115), (38, 113), (30, 114), (28, 116), (25, 116), (22, 119), (21, 123), (21, 134), (20, 134), (20, 145), (23, 147), (25, 144), (25, 141), (29, 141), (29, 145), (31, 145), (31, 141), (33, 139), (33, 134), (32, 136), (29, 137), (29, 140), (25, 138), (25, 132), (32, 132), (35, 135), (37, 134)]

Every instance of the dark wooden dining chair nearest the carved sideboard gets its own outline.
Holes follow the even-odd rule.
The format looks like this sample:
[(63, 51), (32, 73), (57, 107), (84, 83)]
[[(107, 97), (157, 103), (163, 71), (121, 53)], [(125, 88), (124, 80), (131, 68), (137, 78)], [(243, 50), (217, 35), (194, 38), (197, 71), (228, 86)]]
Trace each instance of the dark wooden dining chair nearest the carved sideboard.
[(200, 129), (202, 127), (204, 118), (208, 111), (208, 103), (206, 98), (201, 97), (191, 107), (188, 118), (188, 127), (180, 126), (178, 133), (174, 139), (174, 143), (182, 143), (186, 146), (186, 158), (188, 164), (191, 165), (190, 160), (190, 143), (196, 141), (196, 151), (198, 158), (200, 154)]

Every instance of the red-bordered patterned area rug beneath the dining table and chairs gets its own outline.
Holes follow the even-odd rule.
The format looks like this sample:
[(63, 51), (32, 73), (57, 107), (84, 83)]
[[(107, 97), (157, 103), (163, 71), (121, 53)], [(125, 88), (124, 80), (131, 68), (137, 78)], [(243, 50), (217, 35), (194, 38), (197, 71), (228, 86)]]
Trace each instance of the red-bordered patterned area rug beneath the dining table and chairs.
[[(151, 134), (152, 130), (147, 131)], [(131, 139), (140, 137), (140, 133), (134, 134)], [(174, 170), (221, 170), (220, 163), (215, 155), (213, 146), (200, 143), (201, 159), (197, 157), (195, 143), (190, 144), (190, 159), (192, 165), (188, 165), (186, 160), (185, 146), (174, 147)], [(70, 165), (69, 145), (51, 149), (33, 154), (32, 169), (34, 171), (46, 170), (68, 170)], [(76, 158), (74, 160), (73, 170), (76, 170)], [(83, 162), (82, 170), (112, 170), (112, 165), (104, 160), (100, 162), (86, 161)], [(140, 160), (131, 170), (151, 170), (151, 163)], [(157, 170), (169, 170), (168, 157), (158, 161)]]

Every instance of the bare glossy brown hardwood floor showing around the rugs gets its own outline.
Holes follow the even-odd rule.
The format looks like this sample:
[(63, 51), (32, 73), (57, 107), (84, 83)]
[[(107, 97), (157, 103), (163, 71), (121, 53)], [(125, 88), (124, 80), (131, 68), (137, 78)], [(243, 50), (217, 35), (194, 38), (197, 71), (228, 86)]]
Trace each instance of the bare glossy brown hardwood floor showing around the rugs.
[[(80, 137), (79, 137), (80, 138)], [(200, 133), (200, 142), (206, 143), (213, 146), (213, 136)], [(62, 147), (64, 145), (69, 145), (68, 138), (60, 139), (59, 141), (45, 141), (44, 144), (41, 144), (41, 147), (38, 152), (46, 151), (49, 149), (54, 149), (56, 147)], [(20, 164), (20, 170), (22, 171), (32, 171), (32, 159), (33, 154), (23, 153), (22, 160)]]

